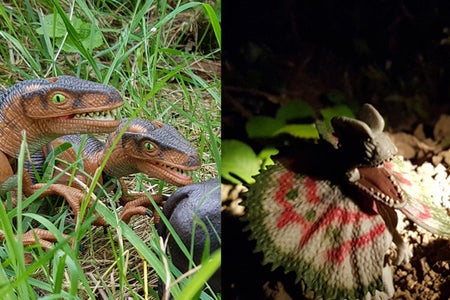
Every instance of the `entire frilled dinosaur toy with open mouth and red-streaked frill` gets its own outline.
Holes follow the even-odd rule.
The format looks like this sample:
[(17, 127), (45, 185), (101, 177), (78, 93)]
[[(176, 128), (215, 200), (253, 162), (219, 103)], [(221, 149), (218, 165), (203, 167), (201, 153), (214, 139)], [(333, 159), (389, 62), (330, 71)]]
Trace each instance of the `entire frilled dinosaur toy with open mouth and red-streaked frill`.
[(375, 108), (332, 126), (337, 145), (305, 141), (255, 178), (244, 201), (247, 229), (263, 263), (294, 272), (316, 298), (392, 297), (386, 251), (394, 241), (396, 263), (411, 256), (394, 209), (447, 237), (450, 217), (417, 173), (403, 172)]

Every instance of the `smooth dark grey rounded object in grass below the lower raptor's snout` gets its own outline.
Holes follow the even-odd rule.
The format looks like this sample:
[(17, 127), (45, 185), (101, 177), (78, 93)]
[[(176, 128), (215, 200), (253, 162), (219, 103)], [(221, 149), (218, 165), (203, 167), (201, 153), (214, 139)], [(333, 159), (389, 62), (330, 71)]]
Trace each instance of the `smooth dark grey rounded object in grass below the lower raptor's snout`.
[[(184, 186), (173, 193), (163, 208), (164, 215), (177, 232), (187, 249), (191, 249), (194, 219), (199, 218), (207, 228), (203, 231), (200, 226), (195, 226), (194, 237), (194, 262), (201, 263), (205, 242), (210, 241), (210, 253), (220, 247), (221, 214), (220, 214), (220, 184), (217, 179), (194, 183)], [(160, 222), (158, 232), (165, 239), (169, 231)], [(169, 238), (169, 253), (175, 266), (185, 273), (189, 268), (189, 261), (179, 249), (173, 238)], [(220, 291), (220, 270), (208, 281), (215, 292)], [(160, 293), (162, 293), (160, 281)]]

